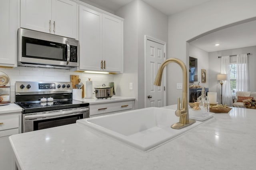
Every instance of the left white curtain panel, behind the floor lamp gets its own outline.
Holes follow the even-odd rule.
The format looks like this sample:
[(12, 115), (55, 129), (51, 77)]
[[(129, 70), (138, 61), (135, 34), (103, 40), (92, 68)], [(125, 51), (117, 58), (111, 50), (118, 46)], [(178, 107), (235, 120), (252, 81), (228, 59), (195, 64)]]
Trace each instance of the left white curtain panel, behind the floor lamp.
[(230, 89), (230, 57), (229, 56), (221, 57), (220, 73), (227, 74), (227, 80), (223, 81), (223, 86), (222, 86), (222, 104), (232, 106), (232, 96), (231, 96), (231, 89)]

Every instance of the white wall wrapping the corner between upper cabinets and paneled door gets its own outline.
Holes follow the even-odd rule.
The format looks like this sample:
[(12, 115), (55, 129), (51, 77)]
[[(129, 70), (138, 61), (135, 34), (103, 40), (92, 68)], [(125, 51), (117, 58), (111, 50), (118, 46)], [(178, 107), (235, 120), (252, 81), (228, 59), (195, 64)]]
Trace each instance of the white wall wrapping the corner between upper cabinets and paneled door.
[[(134, 0), (116, 14), (124, 18), (124, 74), (115, 77), (122, 94), (136, 97), (135, 108), (144, 108), (144, 35), (168, 41), (168, 17), (142, 0)], [(136, 79), (136, 80), (135, 80)], [(134, 82), (134, 90), (129, 90)]]

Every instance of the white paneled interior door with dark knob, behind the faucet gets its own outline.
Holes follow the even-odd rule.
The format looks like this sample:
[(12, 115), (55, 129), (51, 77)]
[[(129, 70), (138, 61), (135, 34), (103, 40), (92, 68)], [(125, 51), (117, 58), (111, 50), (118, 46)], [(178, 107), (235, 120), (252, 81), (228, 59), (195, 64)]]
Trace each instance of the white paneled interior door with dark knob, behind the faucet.
[(148, 37), (146, 37), (145, 43), (145, 107), (166, 106), (166, 70), (164, 70), (162, 75), (161, 86), (154, 85), (158, 68), (165, 60), (166, 43), (154, 41), (154, 39)]

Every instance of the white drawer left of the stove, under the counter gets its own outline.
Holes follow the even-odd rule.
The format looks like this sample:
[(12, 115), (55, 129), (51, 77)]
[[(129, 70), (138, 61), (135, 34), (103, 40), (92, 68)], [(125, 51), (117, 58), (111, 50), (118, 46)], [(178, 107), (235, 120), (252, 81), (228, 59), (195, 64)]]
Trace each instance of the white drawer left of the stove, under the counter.
[(0, 114), (0, 131), (19, 128), (19, 114)]

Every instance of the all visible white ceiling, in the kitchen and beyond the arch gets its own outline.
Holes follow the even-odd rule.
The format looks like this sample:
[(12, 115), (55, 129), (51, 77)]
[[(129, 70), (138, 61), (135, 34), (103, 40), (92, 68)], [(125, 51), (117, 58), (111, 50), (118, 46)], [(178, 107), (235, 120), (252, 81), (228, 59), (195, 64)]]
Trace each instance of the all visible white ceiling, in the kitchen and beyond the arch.
[[(91, 2), (92, 5), (98, 5), (112, 12), (120, 7), (132, 2), (133, 0), (81, 0)], [(167, 16), (188, 10), (209, 0), (143, 0), (150, 6), (163, 12)], [(103, 9), (104, 10), (104, 9)], [(200, 37), (190, 42), (192, 45), (207, 51), (221, 51), (226, 49), (235, 49), (250, 47), (256, 45), (256, 21), (243, 23), (214, 33)], [(215, 44), (220, 44), (215, 46)]]

